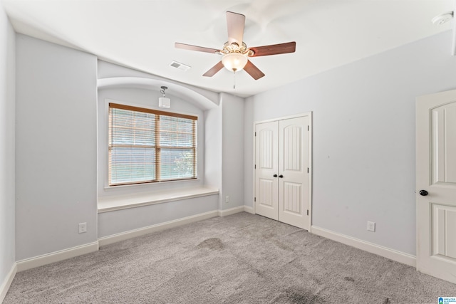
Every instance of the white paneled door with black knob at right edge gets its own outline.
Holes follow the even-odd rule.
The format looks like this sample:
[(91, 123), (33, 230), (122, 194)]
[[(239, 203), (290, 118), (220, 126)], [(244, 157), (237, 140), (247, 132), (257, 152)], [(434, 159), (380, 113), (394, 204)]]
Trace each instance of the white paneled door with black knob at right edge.
[(456, 283), (456, 90), (416, 102), (417, 270)]

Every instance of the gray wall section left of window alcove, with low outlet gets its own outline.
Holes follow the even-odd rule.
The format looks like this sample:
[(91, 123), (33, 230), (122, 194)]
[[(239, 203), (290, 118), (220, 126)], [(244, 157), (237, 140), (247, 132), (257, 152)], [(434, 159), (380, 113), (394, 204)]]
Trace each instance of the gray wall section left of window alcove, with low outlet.
[(16, 261), (97, 241), (96, 68), (16, 36)]

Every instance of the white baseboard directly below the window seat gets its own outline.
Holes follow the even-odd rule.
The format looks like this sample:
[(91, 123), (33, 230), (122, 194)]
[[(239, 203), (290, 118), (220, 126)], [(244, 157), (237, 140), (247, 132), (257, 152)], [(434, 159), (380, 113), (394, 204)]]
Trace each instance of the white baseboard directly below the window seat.
[(209, 211), (203, 214), (197, 214), (194, 216), (187, 216), (182, 219), (175, 219), (173, 221), (165, 221), (165, 223), (155, 224), (139, 229), (134, 229), (130, 231), (121, 232), (120, 234), (113, 234), (111, 236), (103, 236), (98, 239), (100, 246), (105, 246), (110, 243), (117, 243), (119, 241), (125, 241), (127, 239), (132, 239), (137, 236), (143, 236), (145, 234), (152, 234), (152, 232), (161, 231), (165, 229), (174, 228), (177, 226), (182, 226), (185, 224), (194, 223), (195, 221), (202, 221), (203, 219), (210, 219), (212, 217), (218, 216), (219, 211)]

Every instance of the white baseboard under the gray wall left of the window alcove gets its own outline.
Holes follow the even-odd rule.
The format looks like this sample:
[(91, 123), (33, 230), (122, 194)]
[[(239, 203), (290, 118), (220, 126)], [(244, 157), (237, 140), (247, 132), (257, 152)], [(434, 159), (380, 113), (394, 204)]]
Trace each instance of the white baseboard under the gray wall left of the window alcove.
[(26, 271), (31, 268), (63, 261), (67, 258), (74, 258), (75, 256), (82, 256), (83, 254), (94, 251), (98, 251), (98, 241), (17, 261), (17, 271)]

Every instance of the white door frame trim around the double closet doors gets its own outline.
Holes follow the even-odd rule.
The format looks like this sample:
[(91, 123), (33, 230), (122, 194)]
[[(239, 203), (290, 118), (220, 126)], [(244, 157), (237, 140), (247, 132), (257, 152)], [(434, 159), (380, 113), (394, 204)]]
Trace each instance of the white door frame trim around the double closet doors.
[[(253, 123), (253, 132), (255, 133), (255, 130), (256, 130), (256, 127), (258, 124), (260, 123), (264, 123), (264, 122), (274, 122), (274, 121), (279, 121), (279, 120), (288, 120), (290, 118), (297, 118), (297, 117), (309, 117), (309, 179), (308, 179), (308, 186), (309, 186), (309, 205), (307, 206), (307, 209), (309, 209), (309, 226), (307, 227), (307, 231), (311, 232), (311, 227), (312, 227), (312, 176), (313, 176), (313, 169), (314, 169), (314, 164), (312, 163), (312, 144), (313, 144), (313, 140), (312, 140), (312, 127), (313, 127), (313, 121), (312, 121), (312, 112), (303, 112), (303, 113), (299, 113), (299, 114), (296, 114), (296, 115), (290, 115), (290, 116), (283, 116), (283, 117), (276, 117), (276, 118), (271, 118), (269, 120), (258, 120), (258, 121), (254, 121)], [(254, 146), (254, 150), (253, 150), (253, 164), (255, 165), (255, 155), (256, 155), (256, 152), (257, 152), (257, 147), (255, 145), (255, 136), (253, 137), (253, 146)], [(255, 180), (256, 180), (256, 173), (257, 173), (257, 170), (255, 169), (255, 167), (253, 168), (254, 170), (254, 174), (253, 174), (253, 193), (254, 193), (254, 196), (253, 197), (256, 197), (257, 196), (257, 193), (256, 193), (256, 189), (255, 189)], [(257, 211), (256, 211), (256, 206), (255, 206), (255, 201), (252, 201), (252, 205), (253, 205), (253, 211), (254, 211), (254, 214), (257, 214)]]

